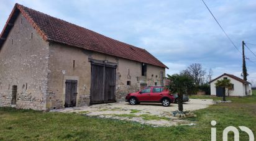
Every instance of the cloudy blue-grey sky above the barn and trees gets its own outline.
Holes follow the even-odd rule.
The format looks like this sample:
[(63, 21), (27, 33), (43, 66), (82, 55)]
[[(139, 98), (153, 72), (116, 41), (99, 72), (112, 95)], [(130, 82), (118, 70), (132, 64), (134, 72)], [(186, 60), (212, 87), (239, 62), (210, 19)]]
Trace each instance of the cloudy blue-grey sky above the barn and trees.
[[(242, 55), (227, 40), (201, 0), (0, 0), (0, 29), (18, 2), (24, 6), (94, 30), (116, 40), (145, 48), (178, 73), (201, 63), (213, 78), (222, 73), (240, 76)], [(227, 34), (242, 52), (242, 40), (256, 53), (256, 1), (205, 0)], [(256, 57), (245, 50), (249, 80), (256, 80)]]

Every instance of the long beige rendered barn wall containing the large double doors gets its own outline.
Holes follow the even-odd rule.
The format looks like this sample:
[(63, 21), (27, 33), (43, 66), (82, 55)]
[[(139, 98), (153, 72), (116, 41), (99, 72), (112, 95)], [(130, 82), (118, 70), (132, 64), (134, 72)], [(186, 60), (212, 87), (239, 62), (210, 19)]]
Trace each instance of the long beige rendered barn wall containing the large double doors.
[[(141, 76), (141, 63), (123, 58), (113, 57), (103, 53), (83, 50), (60, 43), (50, 43), (50, 77), (48, 91), (52, 92), (48, 109), (60, 109), (65, 104), (65, 80), (78, 80), (78, 95), (76, 106), (89, 104), (91, 87), (91, 63), (93, 60), (107, 60), (117, 64), (116, 70), (116, 100), (123, 101), (126, 94), (139, 91), (140, 84), (153, 86), (155, 82), (161, 84), (161, 71), (165, 75), (165, 68), (147, 65), (147, 76)], [(75, 65), (74, 65), (75, 62)], [(127, 85), (130, 81), (130, 85)]]

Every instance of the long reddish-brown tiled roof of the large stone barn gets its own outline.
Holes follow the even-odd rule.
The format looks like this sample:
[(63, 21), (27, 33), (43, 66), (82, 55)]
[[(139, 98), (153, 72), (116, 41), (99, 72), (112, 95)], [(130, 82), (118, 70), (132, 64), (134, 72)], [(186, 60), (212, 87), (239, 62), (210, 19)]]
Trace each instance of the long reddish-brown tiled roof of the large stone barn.
[(104, 35), (85, 29), (75, 24), (57, 19), (42, 12), (16, 4), (6, 22), (0, 35), (0, 48), (6, 40), (19, 12), (29, 20), (30, 24), (37, 30), (39, 35), (46, 41), (64, 43), (73, 47), (93, 50), (120, 58), (148, 63), (163, 68), (168, 68), (157, 58), (153, 57), (147, 50), (134, 47), (127, 43), (111, 39)]

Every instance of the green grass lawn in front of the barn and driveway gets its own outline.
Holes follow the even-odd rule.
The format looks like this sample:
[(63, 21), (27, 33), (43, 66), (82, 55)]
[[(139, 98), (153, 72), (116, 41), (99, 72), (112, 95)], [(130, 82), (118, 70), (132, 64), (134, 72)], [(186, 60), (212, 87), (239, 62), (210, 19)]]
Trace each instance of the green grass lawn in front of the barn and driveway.
[[(245, 98), (227, 97), (233, 102), (195, 111), (198, 117), (187, 120), (196, 125), (177, 127), (0, 107), (0, 140), (211, 140), (212, 120), (217, 121), (217, 140), (222, 140), (222, 130), (229, 125), (245, 125), (256, 134), (255, 92)], [(240, 140), (248, 140), (247, 134), (240, 132)]]

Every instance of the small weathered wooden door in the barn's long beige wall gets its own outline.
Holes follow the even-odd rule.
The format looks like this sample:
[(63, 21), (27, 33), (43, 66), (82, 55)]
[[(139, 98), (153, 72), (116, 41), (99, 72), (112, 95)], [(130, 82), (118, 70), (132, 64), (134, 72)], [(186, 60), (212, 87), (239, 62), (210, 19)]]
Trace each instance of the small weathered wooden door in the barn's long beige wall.
[(65, 107), (76, 106), (77, 80), (66, 80)]

